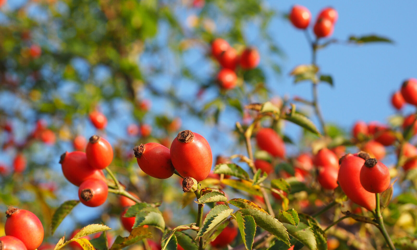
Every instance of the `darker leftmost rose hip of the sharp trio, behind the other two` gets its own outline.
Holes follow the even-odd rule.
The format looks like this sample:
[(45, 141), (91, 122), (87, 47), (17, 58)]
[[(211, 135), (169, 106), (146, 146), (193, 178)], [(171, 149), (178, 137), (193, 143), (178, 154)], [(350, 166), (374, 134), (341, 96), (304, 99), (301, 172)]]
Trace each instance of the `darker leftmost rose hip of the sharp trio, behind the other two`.
[(95, 169), (88, 164), (87, 155), (84, 152), (65, 152), (61, 155), (60, 162), (65, 178), (75, 186), (80, 186), (85, 180), (106, 180), (103, 171)]

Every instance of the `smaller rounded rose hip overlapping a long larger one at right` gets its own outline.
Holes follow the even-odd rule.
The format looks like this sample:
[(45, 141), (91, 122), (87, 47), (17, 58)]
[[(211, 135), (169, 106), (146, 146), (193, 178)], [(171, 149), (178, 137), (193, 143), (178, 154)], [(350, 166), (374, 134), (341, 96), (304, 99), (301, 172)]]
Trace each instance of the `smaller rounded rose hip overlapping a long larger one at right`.
[(382, 193), (389, 187), (391, 178), (384, 163), (375, 158), (365, 161), (359, 175), (362, 187), (371, 193)]

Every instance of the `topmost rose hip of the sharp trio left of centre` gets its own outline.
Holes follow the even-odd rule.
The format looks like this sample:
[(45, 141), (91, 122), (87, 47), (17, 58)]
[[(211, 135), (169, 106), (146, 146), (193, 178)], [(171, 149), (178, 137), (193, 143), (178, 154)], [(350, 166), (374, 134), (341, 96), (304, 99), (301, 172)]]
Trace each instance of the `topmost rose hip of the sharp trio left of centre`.
[(87, 154), (88, 164), (96, 169), (106, 168), (113, 160), (113, 148), (110, 143), (97, 135), (90, 137), (85, 153)]

